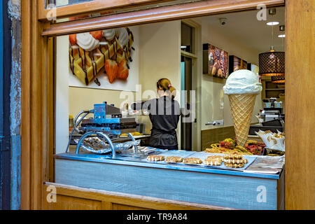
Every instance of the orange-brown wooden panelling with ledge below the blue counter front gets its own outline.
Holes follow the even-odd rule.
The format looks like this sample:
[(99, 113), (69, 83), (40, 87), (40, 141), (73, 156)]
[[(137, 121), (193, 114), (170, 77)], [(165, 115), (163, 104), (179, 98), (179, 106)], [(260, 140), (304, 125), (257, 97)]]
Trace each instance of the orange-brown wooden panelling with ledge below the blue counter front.
[[(55, 189), (55, 193), (51, 190)], [(45, 210), (222, 210), (225, 207), (209, 206), (163, 200), (155, 197), (114, 193), (45, 183), (43, 188), (43, 209)], [(52, 199), (48, 201), (46, 199)]]

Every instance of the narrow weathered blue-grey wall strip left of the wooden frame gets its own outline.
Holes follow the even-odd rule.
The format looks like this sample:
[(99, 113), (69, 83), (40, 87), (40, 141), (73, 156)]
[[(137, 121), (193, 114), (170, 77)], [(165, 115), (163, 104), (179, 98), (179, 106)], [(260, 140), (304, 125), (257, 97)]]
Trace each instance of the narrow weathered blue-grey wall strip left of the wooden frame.
[[(21, 0), (8, 0), (11, 22), (10, 135), (11, 209), (20, 209), (20, 125), (21, 125)], [(9, 46), (3, 46), (4, 48)]]

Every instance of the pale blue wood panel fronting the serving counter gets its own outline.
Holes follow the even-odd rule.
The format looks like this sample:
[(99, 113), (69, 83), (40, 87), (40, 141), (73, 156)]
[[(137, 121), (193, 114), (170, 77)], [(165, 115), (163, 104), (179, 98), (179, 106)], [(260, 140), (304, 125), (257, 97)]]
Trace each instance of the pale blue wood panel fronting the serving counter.
[(56, 183), (235, 209), (276, 209), (276, 179), (79, 160), (55, 162)]

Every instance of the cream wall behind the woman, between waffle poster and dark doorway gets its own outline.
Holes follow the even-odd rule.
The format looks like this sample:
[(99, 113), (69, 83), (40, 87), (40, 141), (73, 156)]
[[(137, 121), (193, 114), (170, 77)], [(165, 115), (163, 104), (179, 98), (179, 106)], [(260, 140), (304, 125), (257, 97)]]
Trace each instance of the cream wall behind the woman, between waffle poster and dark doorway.
[[(169, 78), (176, 90), (181, 90), (181, 21), (141, 25), (139, 36), (139, 84), (144, 99), (148, 99), (147, 90), (156, 93), (156, 83), (160, 78)], [(175, 99), (181, 102), (179, 93)], [(150, 133), (152, 125), (148, 116), (141, 116), (139, 122), (145, 123), (146, 133)], [(180, 129), (177, 134), (180, 143), (179, 133)]]

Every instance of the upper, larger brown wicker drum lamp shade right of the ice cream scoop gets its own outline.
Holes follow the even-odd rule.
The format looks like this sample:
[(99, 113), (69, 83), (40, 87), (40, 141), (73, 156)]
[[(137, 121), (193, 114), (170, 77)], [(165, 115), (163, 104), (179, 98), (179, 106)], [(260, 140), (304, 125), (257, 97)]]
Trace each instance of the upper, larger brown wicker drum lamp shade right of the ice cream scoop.
[(284, 76), (284, 52), (265, 52), (259, 55), (259, 74), (261, 76)]

